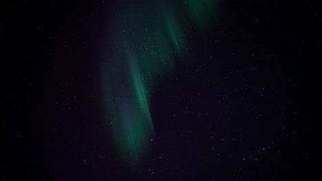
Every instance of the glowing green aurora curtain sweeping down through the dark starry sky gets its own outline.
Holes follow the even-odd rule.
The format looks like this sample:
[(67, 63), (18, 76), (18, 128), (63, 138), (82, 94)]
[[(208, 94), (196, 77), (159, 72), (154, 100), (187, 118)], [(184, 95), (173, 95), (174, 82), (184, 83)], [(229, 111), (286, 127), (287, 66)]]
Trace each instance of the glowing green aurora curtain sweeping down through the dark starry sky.
[[(183, 59), (186, 27), (206, 27), (215, 19), (217, 1), (129, 3), (127, 16), (114, 20), (113, 48), (103, 61), (103, 104), (120, 156), (131, 161), (147, 151), (154, 134), (149, 103), (156, 77)], [(191, 21), (190, 21), (191, 20)]]

